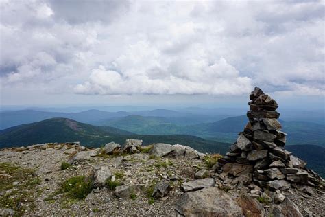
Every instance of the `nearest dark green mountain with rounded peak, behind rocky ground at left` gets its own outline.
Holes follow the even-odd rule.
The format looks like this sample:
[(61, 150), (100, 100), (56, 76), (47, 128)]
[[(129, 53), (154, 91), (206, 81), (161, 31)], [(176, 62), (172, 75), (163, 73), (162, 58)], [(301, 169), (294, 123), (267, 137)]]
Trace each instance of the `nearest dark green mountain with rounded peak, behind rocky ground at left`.
[(1, 130), (0, 148), (66, 141), (80, 141), (84, 146), (99, 147), (110, 141), (123, 144), (125, 139), (130, 138), (143, 139), (143, 144), (184, 144), (203, 152), (224, 153), (230, 145), (192, 135), (136, 135), (109, 126), (93, 126), (67, 118), (52, 118)]

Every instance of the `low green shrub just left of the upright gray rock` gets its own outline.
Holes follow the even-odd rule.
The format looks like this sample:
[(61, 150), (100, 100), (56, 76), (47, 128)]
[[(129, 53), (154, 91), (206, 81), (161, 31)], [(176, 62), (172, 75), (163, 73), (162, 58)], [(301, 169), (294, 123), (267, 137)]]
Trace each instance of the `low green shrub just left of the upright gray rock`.
[(92, 184), (85, 176), (74, 176), (62, 183), (61, 190), (72, 198), (84, 199), (91, 192)]

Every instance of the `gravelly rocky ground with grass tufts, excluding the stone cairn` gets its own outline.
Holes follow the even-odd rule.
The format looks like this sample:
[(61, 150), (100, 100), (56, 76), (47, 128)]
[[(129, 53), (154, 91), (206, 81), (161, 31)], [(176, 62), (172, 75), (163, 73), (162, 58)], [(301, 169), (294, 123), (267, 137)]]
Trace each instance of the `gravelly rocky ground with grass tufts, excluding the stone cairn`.
[[(228, 183), (213, 169), (218, 155), (165, 144), (141, 147), (131, 144), (123, 152), (114, 151), (120, 148), (116, 144), (96, 150), (78, 144), (3, 149), (0, 216), (325, 216), (322, 189), (290, 188), (281, 192), (284, 198), (275, 198), (276, 192), (256, 185)], [(92, 177), (84, 198), (62, 192), (74, 176)], [(121, 186), (111, 190), (112, 183)], [(252, 190), (262, 193), (254, 196)]]

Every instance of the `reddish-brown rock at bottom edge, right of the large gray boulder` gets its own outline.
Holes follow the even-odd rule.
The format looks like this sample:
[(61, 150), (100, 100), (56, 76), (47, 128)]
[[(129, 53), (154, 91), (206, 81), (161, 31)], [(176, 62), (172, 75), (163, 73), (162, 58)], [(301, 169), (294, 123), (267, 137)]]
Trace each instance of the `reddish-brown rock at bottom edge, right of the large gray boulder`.
[(243, 210), (245, 216), (263, 217), (265, 210), (261, 203), (247, 195), (241, 195), (236, 200), (237, 204)]

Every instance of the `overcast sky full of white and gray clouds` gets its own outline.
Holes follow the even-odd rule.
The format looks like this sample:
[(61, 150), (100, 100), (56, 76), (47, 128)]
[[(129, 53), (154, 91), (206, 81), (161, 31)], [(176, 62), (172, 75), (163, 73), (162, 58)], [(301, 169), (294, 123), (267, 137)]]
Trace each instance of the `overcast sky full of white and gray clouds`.
[(1, 105), (221, 104), (257, 85), (324, 106), (324, 5), (0, 0)]

